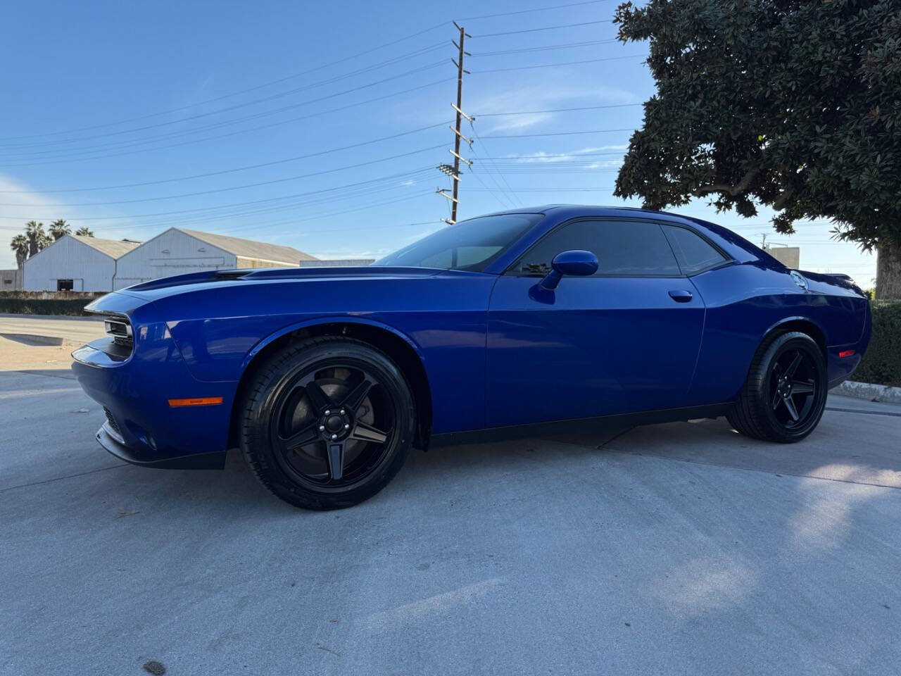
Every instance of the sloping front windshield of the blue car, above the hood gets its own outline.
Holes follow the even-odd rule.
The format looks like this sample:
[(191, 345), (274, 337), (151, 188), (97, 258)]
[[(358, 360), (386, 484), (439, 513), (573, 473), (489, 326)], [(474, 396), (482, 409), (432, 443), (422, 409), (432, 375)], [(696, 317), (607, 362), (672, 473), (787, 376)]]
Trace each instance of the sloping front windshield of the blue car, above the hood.
[(541, 219), (542, 214), (471, 218), (389, 253), (373, 265), (481, 272)]

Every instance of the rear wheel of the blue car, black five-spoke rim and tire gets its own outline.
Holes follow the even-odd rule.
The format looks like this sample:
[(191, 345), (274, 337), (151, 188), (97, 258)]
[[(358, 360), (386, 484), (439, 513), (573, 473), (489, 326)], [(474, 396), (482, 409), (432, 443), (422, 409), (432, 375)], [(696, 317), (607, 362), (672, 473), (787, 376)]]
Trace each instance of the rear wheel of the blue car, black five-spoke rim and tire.
[(823, 417), (827, 390), (823, 352), (814, 339), (806, 333), (779, 333), (754, 354), (748, 379), (726, 419), (753, 439), (799, 442)]

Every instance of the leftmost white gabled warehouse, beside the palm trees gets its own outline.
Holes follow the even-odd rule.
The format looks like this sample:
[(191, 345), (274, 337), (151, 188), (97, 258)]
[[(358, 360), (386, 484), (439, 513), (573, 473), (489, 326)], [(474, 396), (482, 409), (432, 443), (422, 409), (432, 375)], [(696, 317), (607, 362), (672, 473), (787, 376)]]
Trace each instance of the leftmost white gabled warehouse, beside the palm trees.
[(67, 234), (25, 261), (26, 291), (112, 291), (116, 262), (141, 242)]

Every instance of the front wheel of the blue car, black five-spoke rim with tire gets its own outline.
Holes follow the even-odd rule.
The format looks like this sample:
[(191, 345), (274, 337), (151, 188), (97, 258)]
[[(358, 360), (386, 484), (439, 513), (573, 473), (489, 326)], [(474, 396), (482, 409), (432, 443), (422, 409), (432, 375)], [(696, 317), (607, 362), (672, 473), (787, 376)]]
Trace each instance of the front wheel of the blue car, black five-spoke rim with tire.
[(239, 424), (241, 452), (274, 495), (295, 507), (340, 509), (394, 479), (413, 443), (414, 400), (383, 352), (311, 338), (253, 374)]

